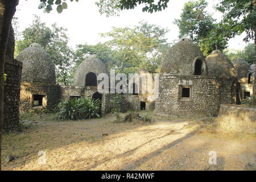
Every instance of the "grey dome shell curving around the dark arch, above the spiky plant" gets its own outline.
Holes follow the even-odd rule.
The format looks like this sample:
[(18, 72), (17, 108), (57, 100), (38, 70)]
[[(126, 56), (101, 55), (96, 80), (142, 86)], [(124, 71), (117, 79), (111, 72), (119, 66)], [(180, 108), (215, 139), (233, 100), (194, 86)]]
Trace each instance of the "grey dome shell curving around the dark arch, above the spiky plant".
[(106, 65), (98, 59), (96, 55), (90, 55), (86, 60), (82, 61), (79, 68), (77, 68), (73, 85), (84, 86), (85, 77), (90, 72), (95, 73), (97, 76), (100, 75), (100, 73), (108, 74)]

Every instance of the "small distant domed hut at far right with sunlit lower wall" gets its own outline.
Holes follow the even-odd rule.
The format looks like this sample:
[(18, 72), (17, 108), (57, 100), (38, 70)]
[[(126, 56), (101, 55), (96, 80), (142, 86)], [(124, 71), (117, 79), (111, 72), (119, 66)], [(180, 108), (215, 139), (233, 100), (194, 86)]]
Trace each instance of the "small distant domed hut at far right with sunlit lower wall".
[(253, 96), (254, 72), (251, 71), (250, 65), (241, 58), (234, 60), (233, 64), (241, 85), (240, 97), (245, 100), (246, 97)]

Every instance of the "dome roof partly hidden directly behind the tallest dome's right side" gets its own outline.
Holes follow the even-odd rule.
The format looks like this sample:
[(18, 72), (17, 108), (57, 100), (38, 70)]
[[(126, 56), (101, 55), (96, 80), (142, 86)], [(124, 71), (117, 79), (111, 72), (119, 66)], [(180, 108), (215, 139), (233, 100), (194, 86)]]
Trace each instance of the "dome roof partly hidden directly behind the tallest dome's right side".
[(206, 58), (208, 75), (225, 78), (236, 78), (236, 70), (228, 59), (228, 56), (221, 53), (221, 51), (213, 51)]

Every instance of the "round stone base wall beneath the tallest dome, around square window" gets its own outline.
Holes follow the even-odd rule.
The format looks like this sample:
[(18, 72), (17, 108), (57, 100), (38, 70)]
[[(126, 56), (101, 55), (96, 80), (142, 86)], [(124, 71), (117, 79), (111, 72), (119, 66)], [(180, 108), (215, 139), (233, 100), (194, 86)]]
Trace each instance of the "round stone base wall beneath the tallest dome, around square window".
[[(190, 97), (181, 98), (181, 90), (190, 88)], [(201, 76), (162, 76), (155, 109), (161, 114), (217, 115), (220, 104), (232, 102), (232, 81)]]

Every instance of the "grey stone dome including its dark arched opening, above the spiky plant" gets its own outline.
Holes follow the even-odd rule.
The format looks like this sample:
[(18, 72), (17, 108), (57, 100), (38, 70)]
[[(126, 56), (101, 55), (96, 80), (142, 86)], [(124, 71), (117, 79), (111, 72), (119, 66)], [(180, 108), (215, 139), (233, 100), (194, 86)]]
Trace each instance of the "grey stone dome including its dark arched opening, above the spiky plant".
[(74, 86), (97, 86), (97, 76), (100, 73), (108, 74), (106, 65), (96, 55), (89, 56), (77, 68), (73, 80)]

